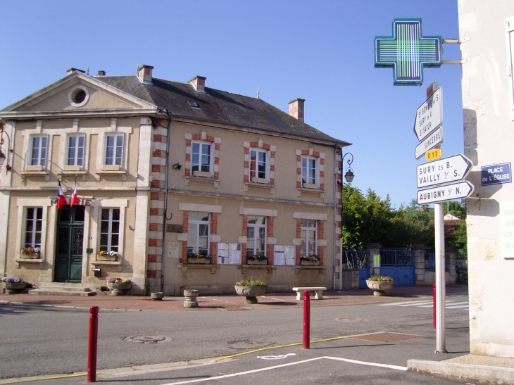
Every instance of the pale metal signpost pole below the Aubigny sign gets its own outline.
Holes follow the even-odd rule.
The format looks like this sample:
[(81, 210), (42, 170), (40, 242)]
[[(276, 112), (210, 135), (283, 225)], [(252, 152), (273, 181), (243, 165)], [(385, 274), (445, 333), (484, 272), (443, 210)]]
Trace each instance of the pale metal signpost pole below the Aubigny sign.
[(436, 296), (436, 350), (434, 353), (446, 351), (446, 317), (444, 314), (446, 282), (444, 275), (444, 203), (434, 203), (435, 230), (435, 296)]

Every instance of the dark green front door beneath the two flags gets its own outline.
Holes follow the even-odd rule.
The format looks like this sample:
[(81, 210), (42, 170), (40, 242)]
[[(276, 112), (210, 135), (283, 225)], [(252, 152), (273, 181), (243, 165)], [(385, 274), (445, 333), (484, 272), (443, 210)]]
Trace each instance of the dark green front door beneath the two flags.
[(82, 282), (85, 206), (65, 206), (57, 213), (54, 282)]

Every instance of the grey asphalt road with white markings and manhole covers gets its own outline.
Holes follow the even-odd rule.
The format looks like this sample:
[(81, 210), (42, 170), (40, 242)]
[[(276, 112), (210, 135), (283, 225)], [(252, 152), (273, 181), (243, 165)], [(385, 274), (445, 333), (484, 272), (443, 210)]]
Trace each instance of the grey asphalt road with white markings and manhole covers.
[[(446, 307), (445, 355), (434, 355), (432, 308), (420, 300), (383, 305), (334, 305), (311, 308), (311, 349), (301, 343), (303, 311), (299, 308), (211, 312), (101, 310), (98, 370), (165, 362), (163, 367), (99, 372), (111, 384), (461, 384), (405, 372), (406, 360), (442, 360), (469, 351), (467, 296)], [(459, 307), (460, 306), (460, 307)], [(63, 374), (87, 370), (87, 309), (0, 304), (0, 378)], [(413, 334), (400, 341), (337, 339), (376, 332)], [(137, 343), (135, 340), (156, 343)], [(138, 338), (139, 337), (139, 338)], [(259, 350), (269, 348), (267, 350)], [(248, 351), (254, 353), (237, 355)], [(207, 360), (199, 365), (192, 360)], [(271, 358), (270, 358), (271, 357)], [(377, 367), (380, 362), (399, 368)], [(201, 362), (203, 363), (203, 362)], [(182, 367), (181, 367), (182, 365)], [(280, 365), (277, 367), (277, 365)], [(138, 372), (139, 370), (139, 372)], [(246, 373), (249, 370), (255, 372)], [(245, 373), (234, 375), (237, 373)], [(221, 377), (213, 379), (216, 376)], [(52, 379), (45, 384), (84, 383), (84, 377)]]

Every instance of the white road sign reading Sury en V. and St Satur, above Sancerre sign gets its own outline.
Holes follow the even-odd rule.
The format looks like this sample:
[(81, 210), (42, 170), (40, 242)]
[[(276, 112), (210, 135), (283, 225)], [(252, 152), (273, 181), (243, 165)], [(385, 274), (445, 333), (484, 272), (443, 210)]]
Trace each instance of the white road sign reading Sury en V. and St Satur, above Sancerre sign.
[(416, 111), (414, 133), (422, 141), (443, 122), (443, 90), (441, 87)]

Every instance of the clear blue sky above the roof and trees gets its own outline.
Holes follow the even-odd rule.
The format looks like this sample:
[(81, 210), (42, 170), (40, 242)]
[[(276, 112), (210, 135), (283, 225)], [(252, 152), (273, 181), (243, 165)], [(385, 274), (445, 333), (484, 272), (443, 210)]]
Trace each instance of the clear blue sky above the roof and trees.
[[(421, 18), (425, 36), (458, 38), (457, 1), (0, 1), (0, 108), (66, 75), (153, 75), (256, 96), (288, 111), (306, 99), (305, 121), (349, 141), (353, 185), (389, 194), (398, 208), (416, 197), (415, 112), (437, 79), (444, 93), (443, 157), (463, 152), (460, 65), (424, 71), (421, 87), (394, 87), (374, 68), (373, 41), (394, 18)], [(444, 44), (444, 60), (460, 58)], [(345, 158), (349, 159), (349, 156)], [(346, 167), (345, 167), (346, 169)]]

